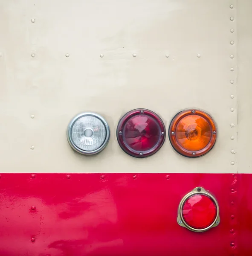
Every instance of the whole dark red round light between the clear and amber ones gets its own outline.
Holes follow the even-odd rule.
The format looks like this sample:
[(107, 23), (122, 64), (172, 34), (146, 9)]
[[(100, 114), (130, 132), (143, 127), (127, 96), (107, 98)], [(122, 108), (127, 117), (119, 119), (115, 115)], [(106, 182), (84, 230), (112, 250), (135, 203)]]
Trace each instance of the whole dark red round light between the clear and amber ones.
[(122, 117), (116, 134), (119, 145), (127, 154), (148, 157), (163, 145), (165, 125), (156, 113), (136, 109)]

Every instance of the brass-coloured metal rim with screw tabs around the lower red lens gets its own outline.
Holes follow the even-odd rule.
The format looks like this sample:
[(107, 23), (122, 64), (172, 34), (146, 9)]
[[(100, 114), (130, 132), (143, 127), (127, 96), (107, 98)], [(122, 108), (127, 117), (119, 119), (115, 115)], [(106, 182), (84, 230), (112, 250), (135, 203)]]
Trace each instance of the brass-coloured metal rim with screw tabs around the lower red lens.
[[(200, 189), (200, 191), (198, 190)], [(202, 195), (206, 195), (209, 198), (211, 198), (211, 200), (214, 202), (214, 204), (216, 205), (216, 209), (217, 209), (217, 213), (216, 213), (216, 217), (214, 219), (214, 221), (212, 222), (211, 225), (209, 225), (208, 227), (205, 227), (203, 229), (197, 229), (194, 227), (191, 227), (190, 225), (188, 225), (182, 215), (182, 207), (185, 204), (185, 201), (191, 197), (192, 195), (196, 195), (196, 194), (202, 194)], [(219, 204), (217, 202), (217, 200), (214, 198), (213, 195), (211, 195), (209, 192), (207, 192), (203, 187), (196, 187), (195, 189), (193, 189), (191, 192), (189, 192), (188, 194), (186, 194), (182, 200), (180, 201), (180, 205), (178, 208), (178, 216), (177, 216), (177, 222), (181, 227), (185, 227), (188, 230), (194, 231), (194, 232), (204, 232), (209, 230), (212, 227), (216, 227), (220, 224), (220, 208), (219, 208)]]

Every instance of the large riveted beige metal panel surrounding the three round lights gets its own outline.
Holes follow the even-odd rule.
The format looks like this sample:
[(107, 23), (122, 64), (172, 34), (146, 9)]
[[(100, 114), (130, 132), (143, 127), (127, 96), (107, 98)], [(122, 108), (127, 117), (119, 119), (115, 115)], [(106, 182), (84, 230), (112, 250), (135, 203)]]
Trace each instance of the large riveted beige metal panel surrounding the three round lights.
[[(1, 172), (237, 172), (231, 165), (237, 96), (230, 83), (236, 81), (236, 69), (230, 71), (237, 60), (230, 44), (236, 8), (230, 4), (2, 0)], [(134, 108), (155, 111), (166, 128), (178, 111), (203, 109), (217, 123), (217, 143), (190, 159), (167, 137), (155, 155), (130, 157), (116, 141), (116, 125)], [(95, 156), (67, 143), (68, 122), (83, 111), (110, 125), (110, 142)]]

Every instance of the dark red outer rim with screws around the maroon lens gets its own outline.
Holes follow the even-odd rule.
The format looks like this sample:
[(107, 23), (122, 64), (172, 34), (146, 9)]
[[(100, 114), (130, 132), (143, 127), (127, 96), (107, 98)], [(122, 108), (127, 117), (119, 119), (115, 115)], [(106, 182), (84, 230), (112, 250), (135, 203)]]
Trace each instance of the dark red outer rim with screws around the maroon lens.
[[(122, 136), (123, 134), (120, 134), (120, 131), (123, 131), (123, 128), (126, 124), (126, 122), (133, 116), (136, 115), (147, 115), (152, 117), (159, 125), (160, 127), (160, 138), (159, 141), (156, 143), (156, 145), (149, 149), (148, 151), (136, 151), (131, 149), (130, 147), (127, 146), (127, 144), (123, 141)], [(145, 158), (145, 157), (149, 157), (153, 154), (155, 154), (157, 151), (159, 151), (159, 149), (162, 147), (162, 145), (165, 142), (165, 137), (166, 137), (166, 131), (165, 131), (165, 124), (162, 121), (161, 117), (156, 114), (155, 112), (148, 110), (146, 108), (136, 108), (133, 109), (131, 111), (128, 111), (127, 113), (125, 113), (122, 118), (119, 120), (117, 128), (116, 128), (116, 137), (117, 137), (117, 141), (119, 146), (122, 148), (122, 150), (130, 155), (131, 157), (137, 157), (137, 158)], [(140, 154), (142, 153), (142, 154)]]

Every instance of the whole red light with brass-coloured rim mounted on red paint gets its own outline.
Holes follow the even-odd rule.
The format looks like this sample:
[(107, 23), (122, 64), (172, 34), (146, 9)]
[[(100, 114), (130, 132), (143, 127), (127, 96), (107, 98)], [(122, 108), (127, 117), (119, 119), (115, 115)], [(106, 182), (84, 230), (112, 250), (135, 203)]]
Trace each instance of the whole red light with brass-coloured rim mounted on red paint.
[(180, 202), (178, 223), (189, 230), (202, 232), (220, 223), (216, 199), (203, 188), (196, 188)]

